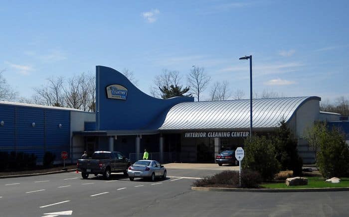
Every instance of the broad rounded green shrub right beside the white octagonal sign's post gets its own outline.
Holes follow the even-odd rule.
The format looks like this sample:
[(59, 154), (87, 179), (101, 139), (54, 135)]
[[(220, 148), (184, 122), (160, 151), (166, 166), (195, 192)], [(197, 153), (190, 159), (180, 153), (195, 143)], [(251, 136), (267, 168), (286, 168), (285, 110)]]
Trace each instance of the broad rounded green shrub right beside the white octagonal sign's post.
[(244, 169), (257, 171), (264, 180), (271, 180), (280, 171), (280, 163), (275, 158), (275, 147), (265, 136), (245, 139)]

